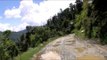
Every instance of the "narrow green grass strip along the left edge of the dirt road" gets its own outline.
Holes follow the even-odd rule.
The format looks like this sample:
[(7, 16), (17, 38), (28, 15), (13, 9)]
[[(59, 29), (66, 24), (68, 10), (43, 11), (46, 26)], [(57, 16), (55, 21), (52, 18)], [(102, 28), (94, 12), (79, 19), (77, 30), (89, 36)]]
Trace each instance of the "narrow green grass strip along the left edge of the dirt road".
[(15, 60), (31, 60), (34, 54), (37, 54), (43, 47), (45, 47), (49, 42), (55, 40), (57, 37), (50, 38), (48, 41), (44, 42), (44, 44), (39, 44), (35, 48), (29, 48), (26, 52), (23, 52), (22, 54), (15, 57)]

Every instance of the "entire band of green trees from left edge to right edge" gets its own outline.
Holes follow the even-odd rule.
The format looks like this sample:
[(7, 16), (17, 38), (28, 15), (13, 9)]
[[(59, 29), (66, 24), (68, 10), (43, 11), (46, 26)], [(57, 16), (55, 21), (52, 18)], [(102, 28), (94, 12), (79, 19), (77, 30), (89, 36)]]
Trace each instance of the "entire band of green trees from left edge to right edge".
[[(105, 7), (104, 7), (105, 6)], [(0, 36), (0, 60), (12, 60), (14, 56), (25, 52), (30, 47), (44, 44), (49, 38), (75, 33), (80, 37), (99, 38), (107, 43), (107, 4), (103, 0), (76, 0), (65, 10), (60, 10), (48, 19), (44, 26), (27, 26), (27, 32), (17, 42), (8, 38), (5, 31)]]

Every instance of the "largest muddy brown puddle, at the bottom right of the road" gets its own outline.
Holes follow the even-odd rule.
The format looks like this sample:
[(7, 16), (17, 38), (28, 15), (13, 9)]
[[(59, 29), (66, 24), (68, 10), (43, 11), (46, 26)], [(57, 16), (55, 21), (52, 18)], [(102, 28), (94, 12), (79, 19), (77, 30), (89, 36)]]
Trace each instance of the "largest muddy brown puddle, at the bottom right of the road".
[(77, 60), (105, 60), (105, 58), (103, 56), (85, 55), (82, 57), (77, 57)]

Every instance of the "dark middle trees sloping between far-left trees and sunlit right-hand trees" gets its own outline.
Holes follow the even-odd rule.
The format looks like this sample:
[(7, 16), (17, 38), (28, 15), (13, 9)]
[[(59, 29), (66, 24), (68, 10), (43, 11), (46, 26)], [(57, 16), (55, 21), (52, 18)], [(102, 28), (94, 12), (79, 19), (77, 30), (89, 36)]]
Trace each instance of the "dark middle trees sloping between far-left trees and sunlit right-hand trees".
[(46, 25), (27, 26), (26, 34), (23, 34), (18, 42), (20, 51), (24, 52), (29, 47), (44, 44), (49, 38), (73, 33), (76, 8), (76, 5), (71, 3), (68, 8), (60, 10), (59, 13), (48, 19)]

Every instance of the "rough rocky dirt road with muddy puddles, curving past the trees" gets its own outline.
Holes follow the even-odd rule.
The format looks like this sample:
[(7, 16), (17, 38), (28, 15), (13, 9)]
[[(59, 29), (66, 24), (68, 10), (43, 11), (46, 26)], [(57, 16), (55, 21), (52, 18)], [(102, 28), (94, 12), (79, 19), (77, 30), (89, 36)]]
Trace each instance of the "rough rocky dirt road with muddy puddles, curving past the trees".
[(107, 46), (70, 34), (49, 43), (32, 60), (107, 60)]

